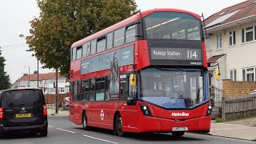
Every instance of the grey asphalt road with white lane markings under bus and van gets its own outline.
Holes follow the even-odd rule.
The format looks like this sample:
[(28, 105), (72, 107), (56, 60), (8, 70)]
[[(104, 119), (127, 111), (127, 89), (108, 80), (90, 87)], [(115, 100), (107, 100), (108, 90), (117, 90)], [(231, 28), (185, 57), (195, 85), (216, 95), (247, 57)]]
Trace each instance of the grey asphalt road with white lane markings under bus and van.
[(16, 133), (0, 137), (0, 144), (155, 144), (155, 143), (256, 143), (231, 138), (218, 138), (210, 135), (186, 133), (182, 138), (174, 138), (171, 134), (128, 134), (126, 137), (113, 135), (111, 130), (93, 128), (82, 130), (82, 126), (74, 125), (67, 117), (49, 117), (49, 131), (46, 138), (38, 134)]

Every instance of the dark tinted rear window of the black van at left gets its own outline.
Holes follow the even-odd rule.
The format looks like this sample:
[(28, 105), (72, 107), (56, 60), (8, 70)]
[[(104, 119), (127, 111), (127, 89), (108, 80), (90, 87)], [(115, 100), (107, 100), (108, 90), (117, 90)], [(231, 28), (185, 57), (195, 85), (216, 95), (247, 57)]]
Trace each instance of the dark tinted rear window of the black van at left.
[(42, 93), (40, 90), (10, 90), (3, 94), (4, 106), (38, 106), (42, 104)]

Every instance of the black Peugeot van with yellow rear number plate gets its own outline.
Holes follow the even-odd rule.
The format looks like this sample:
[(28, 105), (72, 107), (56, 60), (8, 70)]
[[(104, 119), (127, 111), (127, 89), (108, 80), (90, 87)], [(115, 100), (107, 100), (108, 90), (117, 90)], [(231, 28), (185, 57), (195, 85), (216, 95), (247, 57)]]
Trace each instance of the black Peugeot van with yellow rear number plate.
[(47, 136), (47, 110), (42, 90), (22, 88), (0, 92), (0, 134), (6, 131), (31, 131)]

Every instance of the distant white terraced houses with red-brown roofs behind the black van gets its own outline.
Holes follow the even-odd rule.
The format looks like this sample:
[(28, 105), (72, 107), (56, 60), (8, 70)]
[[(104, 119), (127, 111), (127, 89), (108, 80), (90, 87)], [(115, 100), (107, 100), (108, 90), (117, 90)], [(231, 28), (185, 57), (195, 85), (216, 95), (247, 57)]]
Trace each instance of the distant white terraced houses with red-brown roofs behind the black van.
[[(14, 82), (14, 88), (18, 87), (39, 87), (44, 91), (44, 94), (56, 93), (56, 73), (48, 74), (24, 74), (22, 78), (19, 78)], [(58, 73), (58, 94), (69, 93), (70, 82), (66, 81), (66, 78)]]

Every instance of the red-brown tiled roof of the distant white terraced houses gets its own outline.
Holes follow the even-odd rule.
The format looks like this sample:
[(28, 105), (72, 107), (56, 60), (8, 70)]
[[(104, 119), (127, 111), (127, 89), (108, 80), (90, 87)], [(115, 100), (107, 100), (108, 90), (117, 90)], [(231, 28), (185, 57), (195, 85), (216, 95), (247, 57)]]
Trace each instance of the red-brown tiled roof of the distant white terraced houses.
[[(19, 78), (16, 82), (21, 82), (21, 81), (27, 81), (30, 78), (30, 81), (42, 81), (42, 80), (46, 80), (46, 79), (55, 79), (56, 77), (55, 72), (53, 73), (48, 73), (48, 74), (30, 74), (29, 75), (24, 75), (22, 76), (22, 78)], [(62, 76), (60, 73), (58, 73), (58, 78), (65, 78), (64, 76)]]

